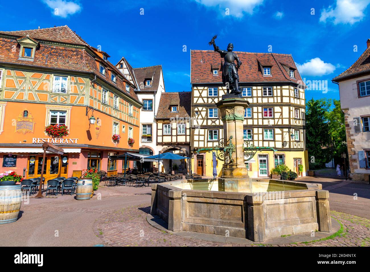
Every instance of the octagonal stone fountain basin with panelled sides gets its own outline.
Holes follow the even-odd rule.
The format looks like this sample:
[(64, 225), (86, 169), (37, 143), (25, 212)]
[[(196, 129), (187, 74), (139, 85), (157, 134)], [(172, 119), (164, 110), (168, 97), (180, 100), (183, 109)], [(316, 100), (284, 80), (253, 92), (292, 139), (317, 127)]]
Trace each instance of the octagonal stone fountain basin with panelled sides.
[(281, 235), (330, 232), (328, 198), (329, 191), (322, 190), (321, 184), (254, 178), (183, 179), (152, 184), (151, 214), (168, 223), (170, 231), (263, 242)]

